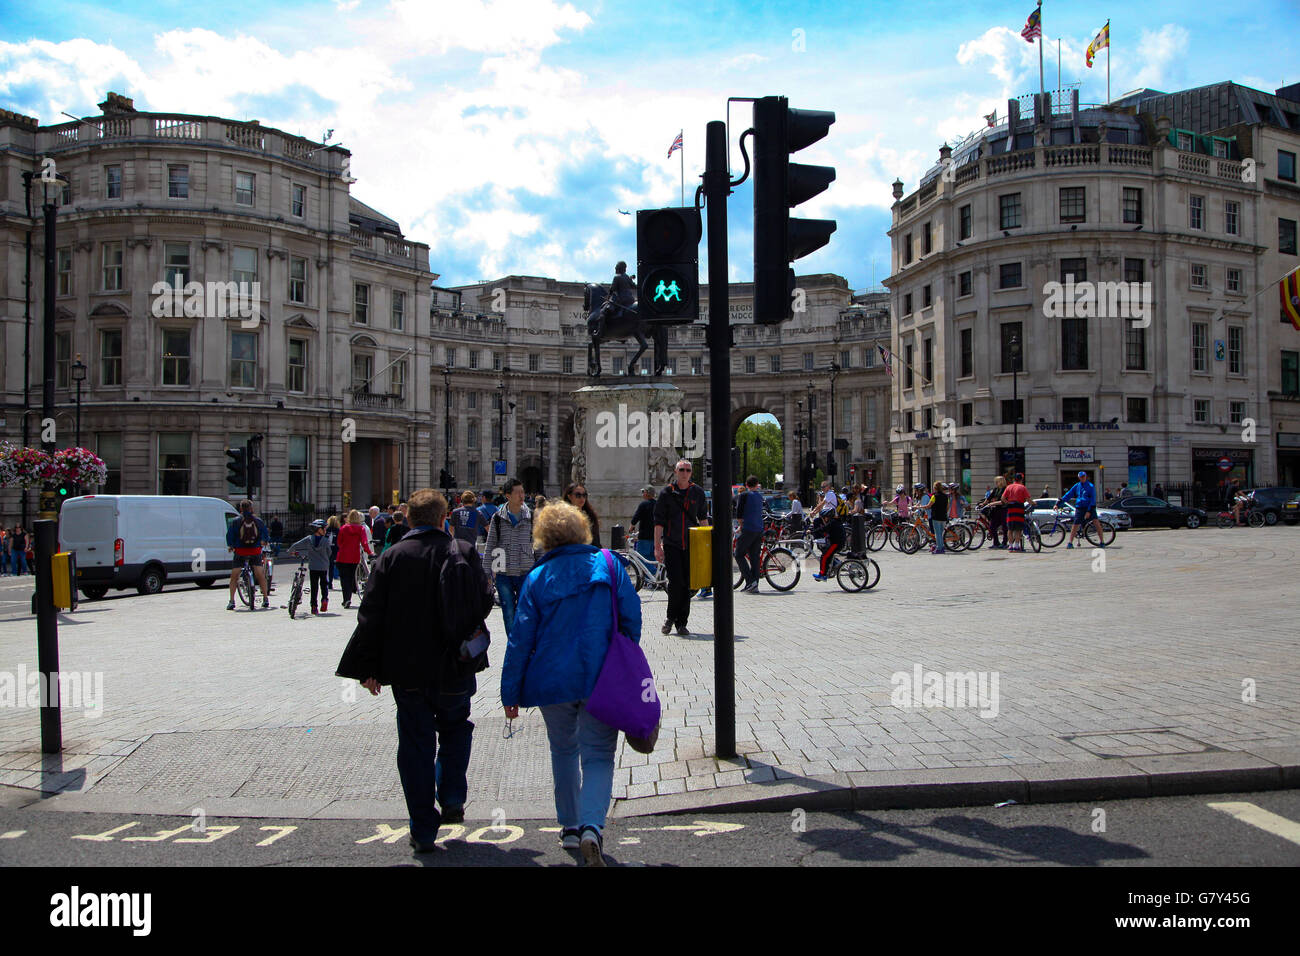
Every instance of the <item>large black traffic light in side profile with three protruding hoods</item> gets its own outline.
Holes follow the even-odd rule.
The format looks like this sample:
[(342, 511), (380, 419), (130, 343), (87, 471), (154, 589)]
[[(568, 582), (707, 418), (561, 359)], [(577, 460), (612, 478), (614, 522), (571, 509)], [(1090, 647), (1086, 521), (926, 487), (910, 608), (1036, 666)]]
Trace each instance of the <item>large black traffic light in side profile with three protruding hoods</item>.
[(831, 241), (833, 219), (790, 219), (790, 209), (835, 181), (835, 166), (790, 163), (822, 139), (835, 122), (823, 109), (790, 109), (784, 96), (754, 103), (754, 323), (793, 317), (790, 263)]

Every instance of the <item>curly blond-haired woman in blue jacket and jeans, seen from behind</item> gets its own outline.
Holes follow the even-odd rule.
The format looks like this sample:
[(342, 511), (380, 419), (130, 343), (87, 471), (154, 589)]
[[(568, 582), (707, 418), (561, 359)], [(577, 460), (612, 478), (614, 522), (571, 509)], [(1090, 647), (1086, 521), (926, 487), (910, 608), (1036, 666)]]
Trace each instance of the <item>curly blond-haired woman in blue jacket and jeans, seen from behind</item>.
[(604, 866), (602, 831), (614, 791), (619, 731), (586, 713), (614, 636), (610, 591), (619, 630), (641, 643), (641, 600), (621, 562), (611, 580), (604, 554), (593, 548), (586, 518), (572, 505), (551, 503), (533, 518), (533, 546), (545, 554), (524, 579), (515, 627), (500, 670), (506, 717), (541, 708), (551, 745), (560, 844), (578, 849), (588, 866)]

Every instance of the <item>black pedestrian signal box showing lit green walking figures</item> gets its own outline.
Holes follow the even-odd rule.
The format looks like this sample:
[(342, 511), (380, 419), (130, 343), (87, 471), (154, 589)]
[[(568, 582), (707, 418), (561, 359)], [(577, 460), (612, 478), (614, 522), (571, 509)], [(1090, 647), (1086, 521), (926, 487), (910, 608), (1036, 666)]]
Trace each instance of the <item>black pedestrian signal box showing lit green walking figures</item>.
[(699, 317), (699, 209), (637, 209), (637, 308), (662, 325)]

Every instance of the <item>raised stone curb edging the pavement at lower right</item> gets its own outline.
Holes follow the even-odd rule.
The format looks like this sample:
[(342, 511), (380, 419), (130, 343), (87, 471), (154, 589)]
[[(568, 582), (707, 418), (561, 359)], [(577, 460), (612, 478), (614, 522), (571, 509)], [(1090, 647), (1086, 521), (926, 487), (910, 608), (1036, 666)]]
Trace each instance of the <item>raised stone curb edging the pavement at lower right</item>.
[(1074, 763), (786, 777), (616, 800), (611, 817), (780, 810), (915, 810), (1300, 788), (1300, 747), (1114, 757)]

